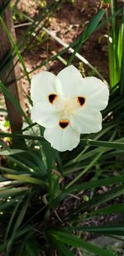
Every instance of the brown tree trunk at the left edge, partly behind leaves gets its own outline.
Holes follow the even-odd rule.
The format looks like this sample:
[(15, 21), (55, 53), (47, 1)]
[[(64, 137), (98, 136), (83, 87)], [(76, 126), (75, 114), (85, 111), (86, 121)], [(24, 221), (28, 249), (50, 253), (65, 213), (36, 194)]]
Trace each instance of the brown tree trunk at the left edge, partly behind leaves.
[[(5, 0), (0, 0), (0, 9), (2, 10), (4, 6), (5, 6)], [(2, 18), (12, 35), (13, 41), (16, 41), (16, 35), (15, 35), (14, 25), (12, 21), (12, 12), (9, 5), (4, 10)], [(11, 42), (9, 41), (6, 32), (4, 31), (4, 29), (0, 24), (0, 64), (1, 66), (2, 66), (2, 60), (4, 60), (7, 57), (7, 54), (9, 54), (11, 49), (12, 49)], [(1, 75), (1, 80), (2, 80), (2, 83), (7, 86), (7, 89), (9, 89), (9, 91), (13, 94), (13, 96), (20, 102), (21, 107), (24, 108), (21, 81), (20, 80), (17, 81), (17, 78), (19, 78), (20, 76), (20, 66), (19, 64), (17, 64), (13, 68), (13, 65), (14, 63), (16, 63), (16, 61), (17, 61), (17, 57), (14, 58), (13, 61), (10, 61), (9, 63), (7, 63), (7, 66), (3, 71), (3, 75)], [(0, 74), (1, 74), (1, 70), (0, 70)], [(12, 133), (15, 133), (21, 130), (22, 116), (14, 107), (14, 105), (10, 102), (10, 100), (7, 99), (6, 95), (4, 95), (4, 97), (5, 97), (7, 114), (10, 121)]]

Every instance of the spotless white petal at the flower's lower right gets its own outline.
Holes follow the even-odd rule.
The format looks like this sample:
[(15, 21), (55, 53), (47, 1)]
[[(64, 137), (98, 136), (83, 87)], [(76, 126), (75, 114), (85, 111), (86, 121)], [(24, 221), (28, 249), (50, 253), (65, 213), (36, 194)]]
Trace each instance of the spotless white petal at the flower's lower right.
[(102, 114), (97, 109), (80, 109), (71, 116), (70, 125), (79, 133), (98, 133), (102, 129)]

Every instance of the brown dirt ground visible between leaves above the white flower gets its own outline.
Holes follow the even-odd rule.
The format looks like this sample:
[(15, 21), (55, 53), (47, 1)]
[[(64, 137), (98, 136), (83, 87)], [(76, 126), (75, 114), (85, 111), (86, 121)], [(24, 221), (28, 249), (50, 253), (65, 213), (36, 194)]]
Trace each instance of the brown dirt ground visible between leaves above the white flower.
[[(39, 1), (27, 2), (26, 0), (20, 0), (18, 8), (28, 16), (35, 17), (38, 12)], [(96, 12), (98, 12), (98, 1), (77, 0), (74, 4), (70, 1), (66, 1), (62, 7), (54, 13), (53, 17), (50, 18), (47, 29), (54, 31), (56, 36), (59, 36), (61, 40), (69, 44), (79, 37)], [(16, 28), (17, 40), (20, 39), (21, 34), (25, 33), (26, 28), (27, 27)], [(108, 81), (107, 38), (104, 37), (105, 34), (106, 27), (93, 33), (93, 36), (90, 36), (88, 41), (83, 44), (79, 54), (84, 56), (94, 67), (96, 67)], [(33, 42), (31, 49), (26, 51), (23, 55), (27, 71), (31, 71), (36, 65), (40, 65), (43, 60), (52, 56), (54, 52), (57, 53), (62, 49), (63, 46), (60, 46), (60, 44), (51, 39), (50, 36), (46, 36), (43, 44), (40, 44), (37, 41)], [(69, 54), (65, 54), (64, 59), (68, 60), (69, 56)], [(79, 60), (74, 58), (73, 64), (79, 67)], [(63, 68), (64, 64), (61, 63), (60, 60), (50, 62), (49, 70), (55, 74)], [(45, 70), (45, 67), (42, 67), (42, 69)], [(40, 70), (41, 69), (36, 72), (39, 72)], [(93, 75), (87, 65), (84, 65), (84, 70), (85, 75)], [(34, 73), (32, 73), (31, 76), (33, 74)], [(25, 79), (22, 79), (22, 84), (25, 89)]]

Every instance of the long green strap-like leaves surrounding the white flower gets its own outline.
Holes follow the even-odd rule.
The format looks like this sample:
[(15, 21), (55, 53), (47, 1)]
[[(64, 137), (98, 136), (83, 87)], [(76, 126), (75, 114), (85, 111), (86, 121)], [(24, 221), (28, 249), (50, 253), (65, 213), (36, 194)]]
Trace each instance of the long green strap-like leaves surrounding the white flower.
[[(19, 15), (21, 11), (17, 10), (18, 2), (15, 2), (12, 11)], [(117, 236), (117, 239), (124, 235), (124, 226), (119, 221), (117, 225), (93, 225), (96, 218), (99, 220), (103, 216), (124, 212), (123, 8), (117, 7), (117, 1), (111, 1), (111, 14), (100, 9), (69, 47), (64, 47), (62, 51), (42, 61), (29, 72), (23, 54), (28, 51), (53, 13), (62, 6), (63, 1), (47, 3), (34, 20), (20, 13), (30, 23), (25, 35), (17, 42), (12, 40), (4, 22), (8, 3), (9, 1), (1, 10), (0, 23), (7, 33), (12, 49), (2, 61), (0, 76), (17, 56), (17, 63), (20, 62), (23, 68), (23, 77), (25, 76), (30, 84), (31, 72), (48, 65), (52, 60), (58, 60), (61, 56), (64, 59), (64, 53), (69, 47), (73, 47), (74, 51), (69, 60), (65, 61), (69, 65), (74, 61), (84, 41), (87, 41), (94, 31), (106, 26), (112, 87), (109, 104), (103, 111), (103, 130), (97, 134), (83, 136), (79, 147), (71, 153), (60, 153), (45, 141), (43, 128), (31, 123), (30, 117), (27, 117), (17, 99), (0, 80), (2, 93), (14, 104), (27, 124), (26, 128), (18, 133), (0, 133), (0, 252), (5, 256), (66, 256), (76, 255), (78, 251), (84, 255), (87, 250), (88, 254), (93, 255), (116, 255), (110, 249), (103, 249), (89, 242), (85, 239), (85, 234), (88, 232), (91, 235), (112, 235)], [(27, 96), (27, 99), (30, 100), (30, 97)], [(3, 138), (6, 138), (6, 141), (8, 138), (17, 138), (20, 142), (25, 140), (26, 147), (13, 148)], [(105, 190), (98, 193), (101, 188)]]

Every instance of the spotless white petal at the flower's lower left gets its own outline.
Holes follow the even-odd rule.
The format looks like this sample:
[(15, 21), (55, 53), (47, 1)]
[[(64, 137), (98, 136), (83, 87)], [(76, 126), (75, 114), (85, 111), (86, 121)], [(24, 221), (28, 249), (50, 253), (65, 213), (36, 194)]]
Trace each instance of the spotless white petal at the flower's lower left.
[(41, 124), (45, 128), (52, 128), (59, 123), (60, 118), (54, 104), (42, 101), (32, 107), (31, 120)]

